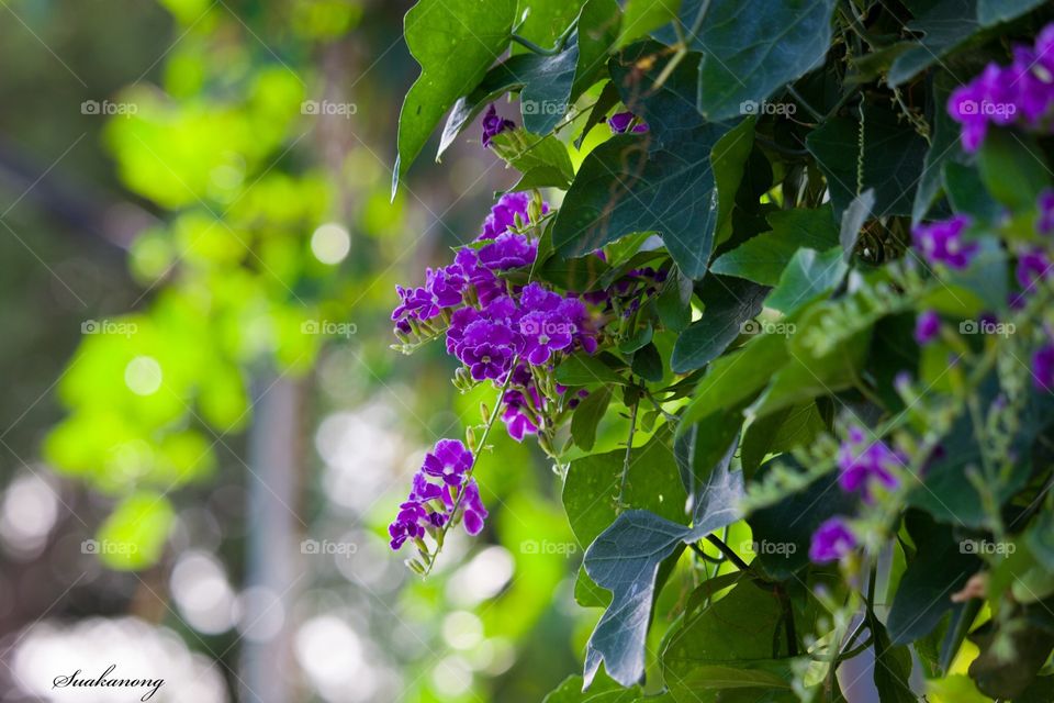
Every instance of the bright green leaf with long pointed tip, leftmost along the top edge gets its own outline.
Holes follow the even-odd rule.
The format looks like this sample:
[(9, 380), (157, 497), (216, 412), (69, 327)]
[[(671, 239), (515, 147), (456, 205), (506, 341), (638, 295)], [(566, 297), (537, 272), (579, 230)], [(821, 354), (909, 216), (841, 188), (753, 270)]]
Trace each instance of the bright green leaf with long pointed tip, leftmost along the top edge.
[(393, 197), (444, 113), (505, 51), (515, 16), (514, 0), (419, 0), (406, 13), (403, 36), (421, 76), (399, 113)]

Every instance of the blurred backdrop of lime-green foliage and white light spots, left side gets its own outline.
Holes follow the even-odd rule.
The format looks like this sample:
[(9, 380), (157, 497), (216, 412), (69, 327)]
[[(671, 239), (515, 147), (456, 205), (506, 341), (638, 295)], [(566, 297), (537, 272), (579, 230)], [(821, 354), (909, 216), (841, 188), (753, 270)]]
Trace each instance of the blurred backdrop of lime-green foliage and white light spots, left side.
[(0, 700), (148, 692), (61, 685), (115, 665), (153, 701), (540, 701), (581, 669), (598, 611), (529, 444), (492, 435), (487, 527), (428, 581), (388, 548), (490, 400), (389, 348), (394, 286), (515, 182), (473, 127), (390, 202), (411, 4), (0, 0)]

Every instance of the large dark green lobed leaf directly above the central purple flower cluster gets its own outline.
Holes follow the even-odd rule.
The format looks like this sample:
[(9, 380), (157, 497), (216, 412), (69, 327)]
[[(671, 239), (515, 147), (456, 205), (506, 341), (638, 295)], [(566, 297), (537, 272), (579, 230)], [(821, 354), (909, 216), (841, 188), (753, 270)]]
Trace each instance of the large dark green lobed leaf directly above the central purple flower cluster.
[[(710, 152), (728, 125), (706, 124), (686, 104), (695, 70), (682, 62), (661, 89), (654, 81), (665, 47), (635, 44), (612, 62), (623, 101), (640, 114), (647, 134), (615, 136), (585, 158), (557, 214), (552, 239), (564, 256), (580, 256), (636, 232), (659, 233), (686, 276), (706, 271), (717, 223), (711, 203)], [(644, 76), (638, 64), (652, 60)]]

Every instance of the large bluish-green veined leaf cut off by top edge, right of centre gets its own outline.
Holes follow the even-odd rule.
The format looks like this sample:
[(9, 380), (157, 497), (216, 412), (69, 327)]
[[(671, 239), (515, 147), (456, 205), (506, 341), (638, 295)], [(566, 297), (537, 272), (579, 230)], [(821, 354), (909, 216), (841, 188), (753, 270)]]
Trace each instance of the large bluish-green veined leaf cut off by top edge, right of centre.
[(691, 48), (702, 53), (698, 109), (715, 122), (744, 114), (823, 63), (836, 0), (685, 0), (692, 26), (705, 12)]

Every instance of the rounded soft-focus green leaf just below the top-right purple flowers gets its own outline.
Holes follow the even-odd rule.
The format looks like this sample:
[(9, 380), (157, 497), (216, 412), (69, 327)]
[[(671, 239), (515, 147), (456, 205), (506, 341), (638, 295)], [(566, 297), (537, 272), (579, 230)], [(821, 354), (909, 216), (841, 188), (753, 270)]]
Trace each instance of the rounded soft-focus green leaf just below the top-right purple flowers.
[(993, 130), (977, 154), (980, 179), (996, 200), (1011, 210), (1035, 205), (1051, 186), (1043, 150), (1030, 137), (1009, 130)]

